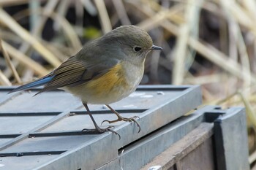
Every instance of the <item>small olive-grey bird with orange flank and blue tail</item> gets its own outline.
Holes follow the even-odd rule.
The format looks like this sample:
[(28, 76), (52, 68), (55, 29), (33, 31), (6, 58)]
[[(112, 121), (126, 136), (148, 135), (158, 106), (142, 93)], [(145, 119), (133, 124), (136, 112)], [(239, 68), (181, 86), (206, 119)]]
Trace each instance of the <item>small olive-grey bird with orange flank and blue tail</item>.
[(146, 55), (151, 50), (162, 50), (162, 47), (153, 45), (151, 36), (146, 31), (138, 26), (120, 26), (99, 39), (86, 43), (76, 55), (67, 59), (50, 74), (21, 85), (10, 93), (41, 85), (44, 85), (44, 88), (39, 93), (60, 88), (80, 98), (91, 117), (95, 129), (82, 131), (111, 131), (117, 134), (110, 129), (113, 127), (111, 125), (108, 128), (99, 128), (87, 105), (105, 104), (118, 118), (103, 122), (134, 122), (140, 132), (140, 125), (136, 121), (138, 117), (122, 117), (109, 104), (135, 91), (143, 77)]

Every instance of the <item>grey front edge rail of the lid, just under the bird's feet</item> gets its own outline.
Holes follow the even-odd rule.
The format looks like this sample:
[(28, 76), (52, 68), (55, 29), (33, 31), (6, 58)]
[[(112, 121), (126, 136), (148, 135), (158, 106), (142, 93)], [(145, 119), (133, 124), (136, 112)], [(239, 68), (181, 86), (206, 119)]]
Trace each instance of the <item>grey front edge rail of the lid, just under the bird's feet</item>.
[[(118, 157), (118, 152), (116, 152), (118, 148), (140, 139), (140, 137), (155, 131), (155, 129), (162, 127), (162, 125), (170, 123), (170, 121), (175, 120), (177, 117), (184, 115), (184, 109), (188, 112), (198, 105), (198, 101), (196, 101), (197, 104), (195, 104), (194, 101), (198, 99), (197, 95), (200, 93), (199, 88), (195, 88), (194, 90), (187, 89), (187, 91), (184, 90), (182, 93), (184, 93), (184, 95), (170, 98), (170, 101), (166, 101), (166, 103), (162, 103), (157, 107), (153, 107), (152, 109), (143, 112), (143, 114), (140, 115), (139, 120), (142, 129), (139, 134), (136, 133), (138, 130), (135, 125), (133, 125), (132, 128), (130, 123), (124, 123), (115, 128), (121, 135), (120, 141), (118, 141), (118, 136), (113, 136), (113, 134), (102, 134), (102, 136), (95, 139), (93, 143), (83, 144), (78, 150), (64, 152), (61, 154), (61, 158), (42, 165), (39, 169), (63, 169), (64, 167), (72, 169), (72, 167), (78, 165), (80, 165), (82, 169), (94, 169), (110, 160), (114, 160)], [(90, 152), (91, 148), (94, 148), (93, 152)], [(102, 152), (102, 150), (104, 150), (104, 152)], [(108, 156), (106, 156), (106, 153)], [(89, 155), (89, 158), (80, 161), (78, 158), (80, 155)], [(75, 161), (75, 164), (70, 163), (70, 160), (73, 159), (77, 160)], [(97, 161), (91, 162), (91, 160)], [(59, 167), (59, 165), (61, 165), (61, 167)]]

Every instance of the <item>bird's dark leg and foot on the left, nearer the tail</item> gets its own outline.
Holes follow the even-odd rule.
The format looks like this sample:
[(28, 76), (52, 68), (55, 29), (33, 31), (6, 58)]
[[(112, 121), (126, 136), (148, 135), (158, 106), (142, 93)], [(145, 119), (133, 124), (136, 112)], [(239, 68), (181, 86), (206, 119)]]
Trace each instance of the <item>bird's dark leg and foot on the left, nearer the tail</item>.
[(121, 139), (121, 136), (116, 131), (113, 131), (112, 129), (110, 129), (110, 128), (113, 128), (113, 125), (108, 126), (108, 128), (99, 128), (99, 125), (97, 125), (96, 121), (94, 120), (94, 117), (92, 117), (92, 115), (91, 115), (91, 111), (90, 111), (88, 105), (86, 103), (83, 103), (83, 106), (86, 107), (86, 110), (87, 110), (89, 116), (91, 117), (92, 122), (94, 123), (95, 129), (83, 128), (82, 131), (90, 131), (90, 132), (96, 131), (96, 132), (99, 132), (100, 134), (102, 134), (106, 131), (110, 131), (113, 134), (118, 135), (119, 139)]

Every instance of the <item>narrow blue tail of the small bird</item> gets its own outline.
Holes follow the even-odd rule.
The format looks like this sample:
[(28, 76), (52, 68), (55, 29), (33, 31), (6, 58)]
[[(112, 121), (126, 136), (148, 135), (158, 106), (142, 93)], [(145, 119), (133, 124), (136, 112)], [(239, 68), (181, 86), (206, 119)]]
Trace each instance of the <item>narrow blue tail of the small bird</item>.
[(50, 82), (50, 80), (52, 80), (52, 79), (53, 79), (53, 77), (42, 77), (41, 79), (36, 80), (34, 82), (30, 82), (26, 85), (20, 85), (18, 88), (11, 90), (9, 93), (13, 93), (13, 92), (20, 91), (20, 90), (29, 90), (31, 88), (37, 88), (41, 85), (45, 85), (46, 83)]

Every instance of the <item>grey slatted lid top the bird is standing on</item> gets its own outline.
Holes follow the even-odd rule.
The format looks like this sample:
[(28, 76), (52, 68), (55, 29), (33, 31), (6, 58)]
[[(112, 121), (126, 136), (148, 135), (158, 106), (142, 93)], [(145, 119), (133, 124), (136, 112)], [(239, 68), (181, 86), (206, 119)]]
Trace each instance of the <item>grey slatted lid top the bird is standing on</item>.
[[(4, 89), (4, 93), (8, 89), (12, 88)], [(19, 136), (0, 143), (0, 155), (13, 155), (18, 152), (21, 155), (24, 154), (18, 158), (29, 157), (32, 161), (34, 156), (34, 161), (36, 161), (39, 158), (37, 154), (44, 152), (45, 154), (47, 152), (56, 152), (57, 154), (50, 161), (47, 159), (48, 157), (44, 157), (47, 159), (47, 161), (42, 160), (44, 163), (31, 163), (37, 165), (33, 166), (33, 169), (59, 169), (61, 168), (59, 165), (64, 169), (79, 169), (79, 167), (90, 169), (102, 166), (118, 157), (118, 149), (147, 136), (201, 104), (199, 86), (142, 86), (128, 98), (111, 104), (124, 117), (140, 116), (138, 122), (141, 132), (139, 134), (135, 123), (115, 124), (114, 130), (121, 135), (121, 140), (118, 140), (118, 136), (111, 133), (79, 134), (82, 128), (93, 127), (89, 116), (84, 115), (86, 112), (84, 112), (85, 109), (80, 101), (74, 100), (73, 96), (59, 90), (32, 97), (38, 90), (39, 88), (36, 88), (31, 90), (31, 93), (16, 93), (11, 98), (4, 97), (5, 99), (0, 101), (0, 119), (1, 117), (8, 117), (10, 120), (21, 118), (23, 120), (17, 120), (17, 123), (28, 124), (19, 126), (22, 130)], [(24, 102), (25, 104), (23, 104)], [(42, 102), (42, 104), (38, 104), (38, 102)], [(89, 107), (97, 113), (94, 114), (94, 117), (98, 124), (102, 120), (116, 118), (116, 115), (110, 113), (102, 105), (89, 105)], [(75, 115), (69, 114), (70, 112), (74, 112)], [(34, 115), (32, 115), (33, 113)], [(29, 117), (31, 117), (30, 125)], [(43, 117), (42, 120), (40, 117)], [(26, 120), (26, 118), (28, 119)], [(36, 121), (37, 118), (39, 120)], [(3, 133), (0, 130), (0, 139), (4, 135), (16, 134), (17, 130), (18, 128), (15, 131), (5, 130), (2, 131)], [(29, 138), (31, 135), (35, 137)], [(61, 142), (63, 144), (60, 144)], [(33, 152), (35, 155), (31, 155)], [(6, 156), (1, 160), (0, 163), (6, 163), (15, 158)], [(14, 165), (12, 165), (12, 169), (15, 169)], [(19, 169), (23, 169), (23, 166), (19, 166)]]

